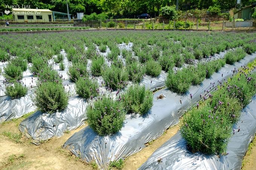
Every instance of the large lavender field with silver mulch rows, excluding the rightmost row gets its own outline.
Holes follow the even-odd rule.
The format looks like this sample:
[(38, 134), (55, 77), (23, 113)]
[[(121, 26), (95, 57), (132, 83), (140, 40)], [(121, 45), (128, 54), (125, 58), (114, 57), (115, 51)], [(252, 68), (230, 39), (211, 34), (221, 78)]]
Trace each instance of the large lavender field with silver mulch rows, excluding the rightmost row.
[[(122, 141), (113, 152), (131, 149), (119, 155), (101, 149), (90, 158), (85, 156), (89, 152), (80, 150), (85, 154), (81, 158), (95, 160), (101, 168), (158, 138), (184, 111), (256, 57), (253, 33), (91, 31), (1, 38), (12, 40), (12, 44), (1, 44), (5, 64), (1, 90), (12, 97), (0, 97), (2, 106), (12, 110), (8, 105), (13, 100), (27, 97), (38, 110), (20, 123), (20, 131), (40, 144), (87, 120), (89, 126), (73, 135), (65, 147), (90, 141), (85, 149), (95, 142), (99, 149), (108, 150), (101, 145), (107, 140), (109, 146)], [(21, 44), (21, 39), (30, 43)], [(21, 83), (24, 72), (29, 72), (34, 84)], [(26, 111), (18, 114), (13, 109), (9, 114), (13, 116), (3, 121)], [(134, 140), (140, 142), (131, 147), (128, 143)]]

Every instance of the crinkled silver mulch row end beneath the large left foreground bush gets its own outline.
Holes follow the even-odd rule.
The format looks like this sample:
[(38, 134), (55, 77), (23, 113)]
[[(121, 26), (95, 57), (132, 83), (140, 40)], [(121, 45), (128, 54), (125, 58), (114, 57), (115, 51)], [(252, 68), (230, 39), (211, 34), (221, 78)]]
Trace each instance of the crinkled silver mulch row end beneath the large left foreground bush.
[(52, 114), (36, 111), (20, 123), (19, 130), (26, 137), (32, 137), (35, 144), (52, 137), (60, 137), (65, 131), (76, 129), (84, 123), (87, 104), (84, 99), (72, 96), (64, 111)]

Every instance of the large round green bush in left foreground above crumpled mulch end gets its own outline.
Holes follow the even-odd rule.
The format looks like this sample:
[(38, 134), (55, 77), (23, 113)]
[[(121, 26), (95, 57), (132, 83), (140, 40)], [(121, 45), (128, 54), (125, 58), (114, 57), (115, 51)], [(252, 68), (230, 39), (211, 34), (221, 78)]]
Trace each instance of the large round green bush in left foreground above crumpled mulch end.
[(39, 109), (53, 113), (67, 107), (68, 94), (62, 84), (48, 81), (39, 84), (32, 100)]

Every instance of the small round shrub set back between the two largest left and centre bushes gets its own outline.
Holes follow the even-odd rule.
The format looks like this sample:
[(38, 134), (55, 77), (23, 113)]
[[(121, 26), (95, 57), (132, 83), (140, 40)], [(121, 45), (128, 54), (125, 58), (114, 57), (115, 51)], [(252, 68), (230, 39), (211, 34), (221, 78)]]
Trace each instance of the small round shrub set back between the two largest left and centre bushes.
[(90, 78), (80, 77), (75, 84), (76, 93), (85, 99), (98, 96), (98, 88), (98, 82)]

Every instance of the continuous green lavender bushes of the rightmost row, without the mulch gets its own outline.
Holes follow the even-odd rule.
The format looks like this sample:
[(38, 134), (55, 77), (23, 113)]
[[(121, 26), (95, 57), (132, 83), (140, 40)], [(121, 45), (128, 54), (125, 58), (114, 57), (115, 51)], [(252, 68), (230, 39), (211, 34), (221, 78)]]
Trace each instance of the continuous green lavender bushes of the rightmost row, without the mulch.
[(183, 116), (181, 135), (192, 152), (225, 153), (233, 123), (239, 120), (242, 107), (256, 93), (256, 74), (244, 70), (209, 95), (202, 106), (197, 105)]

